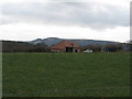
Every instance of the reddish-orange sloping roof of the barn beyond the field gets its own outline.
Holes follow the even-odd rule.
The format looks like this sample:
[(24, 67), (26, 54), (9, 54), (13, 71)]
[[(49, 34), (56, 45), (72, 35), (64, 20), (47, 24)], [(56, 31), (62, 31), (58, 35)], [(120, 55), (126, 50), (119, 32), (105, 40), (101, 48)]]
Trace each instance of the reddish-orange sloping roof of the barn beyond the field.
[(69, 41), (62, 41), (55, 45), (52, 46), (52, 48), (65, 48), (65, 47), (75, 47), (75, 48), (79, 48), (79, 45), (77, 45), (74, 42), (69, 42)]

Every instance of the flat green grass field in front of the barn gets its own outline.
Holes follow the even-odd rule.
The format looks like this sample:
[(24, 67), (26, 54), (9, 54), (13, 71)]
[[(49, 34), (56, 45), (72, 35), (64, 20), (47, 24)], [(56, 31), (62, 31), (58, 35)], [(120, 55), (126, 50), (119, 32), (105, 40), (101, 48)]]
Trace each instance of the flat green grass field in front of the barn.
[(129, 53), (3, 53), (3, 97), (129, 97)]

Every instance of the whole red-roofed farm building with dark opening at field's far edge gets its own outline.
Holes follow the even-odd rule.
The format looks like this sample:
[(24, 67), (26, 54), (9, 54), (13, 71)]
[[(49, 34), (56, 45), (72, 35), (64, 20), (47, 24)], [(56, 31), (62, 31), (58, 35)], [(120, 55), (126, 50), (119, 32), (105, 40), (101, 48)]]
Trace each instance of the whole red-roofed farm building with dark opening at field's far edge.
[(55, 45), (52, 46), (52, 52), (57, 53), (79, 53), (80, 47), (74, 42), (69, 41), (62, 41)]

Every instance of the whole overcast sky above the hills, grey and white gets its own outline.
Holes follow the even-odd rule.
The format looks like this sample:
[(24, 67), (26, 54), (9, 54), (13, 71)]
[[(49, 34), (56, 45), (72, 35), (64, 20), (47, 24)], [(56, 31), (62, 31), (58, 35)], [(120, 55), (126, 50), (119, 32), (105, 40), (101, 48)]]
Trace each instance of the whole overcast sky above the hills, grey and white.
[(131, 0), (0, 0), (0, 40), (127, 42)]

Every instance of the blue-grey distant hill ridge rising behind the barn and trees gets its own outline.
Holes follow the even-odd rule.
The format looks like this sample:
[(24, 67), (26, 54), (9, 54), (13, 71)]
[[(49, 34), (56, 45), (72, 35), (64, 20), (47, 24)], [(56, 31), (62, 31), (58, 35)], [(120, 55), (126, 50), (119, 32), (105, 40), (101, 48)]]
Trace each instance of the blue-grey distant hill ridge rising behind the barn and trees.
[[(29, 42), (30, 44), (38, 44), (38, 43), (44, 43), (47, 46), (52, 46), (53, 44), (56, 44), (61, 41), (64, 41), (66, 38), (58, 38), (58, 37), (47, 37), (47, 38), (36, 38), (34, 41)], [(106, 45), (106, 44), (117, 44), (119, 42), (111, 42), (111, 41), (96, 41), (96, 40), (67, 40), (77, 43), (80, 46), (86, 46), (90, 44), (100, 44), (100, 45)]]

